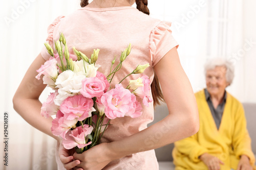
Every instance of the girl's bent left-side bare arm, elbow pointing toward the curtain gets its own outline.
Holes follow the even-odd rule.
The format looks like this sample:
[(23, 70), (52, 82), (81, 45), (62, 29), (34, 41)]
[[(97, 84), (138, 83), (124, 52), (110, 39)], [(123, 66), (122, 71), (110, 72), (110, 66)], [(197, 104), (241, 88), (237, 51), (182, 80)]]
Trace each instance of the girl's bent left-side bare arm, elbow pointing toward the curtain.
[(13, 108), (30, 125), (58, 140), (51, 132), (52, 117), (46, 119), (40, 115), (42, 104), (38, 98), (46, 85), (42, 83), (42, 79), (37, 80), (35, 76), (38, 74), (36, 70), (44, 63), (45, 60), (39, 54), (30, 65), (13, 96)]

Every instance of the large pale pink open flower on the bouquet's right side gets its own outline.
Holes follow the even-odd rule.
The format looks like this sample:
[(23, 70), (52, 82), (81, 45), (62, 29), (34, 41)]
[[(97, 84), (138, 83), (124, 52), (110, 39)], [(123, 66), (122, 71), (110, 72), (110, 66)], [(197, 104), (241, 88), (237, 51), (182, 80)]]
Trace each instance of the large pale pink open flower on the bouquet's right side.
[(110, 119), (140, 116), (136, 96), (130, 90), (123, 88), (121, 84), (117, 84), (114, 89), (104, 93), (101, 96), (101, 103), (105, 106), (105, 115)]

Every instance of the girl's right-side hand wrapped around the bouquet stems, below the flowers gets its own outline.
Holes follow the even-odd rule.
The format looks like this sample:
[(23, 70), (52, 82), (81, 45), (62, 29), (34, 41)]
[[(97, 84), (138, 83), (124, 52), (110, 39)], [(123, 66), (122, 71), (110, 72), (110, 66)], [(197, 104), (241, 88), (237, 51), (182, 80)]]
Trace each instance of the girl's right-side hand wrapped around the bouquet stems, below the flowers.
[(86, 170), (100, 170), (112, 161), (108, 150), (108, 143), (100, 143), (82, 154), (75, 153), (75, 159), (80, 160), (77, 167), (82, 167)]

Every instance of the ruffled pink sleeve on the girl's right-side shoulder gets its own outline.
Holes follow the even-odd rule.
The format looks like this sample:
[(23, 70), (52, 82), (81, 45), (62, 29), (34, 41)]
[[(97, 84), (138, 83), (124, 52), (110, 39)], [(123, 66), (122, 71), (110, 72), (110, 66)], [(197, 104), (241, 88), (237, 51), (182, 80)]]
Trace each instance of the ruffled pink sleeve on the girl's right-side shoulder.
[(161, 21), (150, 35), (150, 55), (155, 66), (173, 47), (179, 46), (170, 30), (171, 22)]

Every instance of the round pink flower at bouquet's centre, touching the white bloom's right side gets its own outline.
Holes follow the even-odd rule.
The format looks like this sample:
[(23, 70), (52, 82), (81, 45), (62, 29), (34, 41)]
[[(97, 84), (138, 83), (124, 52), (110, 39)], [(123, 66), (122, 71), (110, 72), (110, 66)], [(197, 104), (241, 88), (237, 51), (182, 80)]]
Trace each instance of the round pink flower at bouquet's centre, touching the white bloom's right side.
[(82, 88), (80, 93), (86, 98), (100, 97), (105, 90), (104, 81), (97, 77), (85, 78), (82, 80)]

